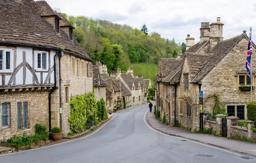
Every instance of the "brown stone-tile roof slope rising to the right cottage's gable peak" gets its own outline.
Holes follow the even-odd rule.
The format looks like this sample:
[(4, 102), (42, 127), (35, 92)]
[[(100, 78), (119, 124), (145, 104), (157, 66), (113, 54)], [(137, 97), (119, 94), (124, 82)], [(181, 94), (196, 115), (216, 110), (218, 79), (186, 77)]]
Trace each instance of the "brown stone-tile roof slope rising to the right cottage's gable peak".
[[(248, 36), (245, 34), (235, 36), (234, 38), (230, 38), (228, 40), (223, 40), (217, 45), (215, 45), (211, 52), (212, 58), (204, 64), (204, 67), (198, 71), (193, 78), (192, 82), (200, 82), (204, 77), (216, 66), (222, 58), (224, 58), (230, 50), (232, 50), (243, 38), (248, 40)], [(255, 46), (255, 45), (254, 45)]]

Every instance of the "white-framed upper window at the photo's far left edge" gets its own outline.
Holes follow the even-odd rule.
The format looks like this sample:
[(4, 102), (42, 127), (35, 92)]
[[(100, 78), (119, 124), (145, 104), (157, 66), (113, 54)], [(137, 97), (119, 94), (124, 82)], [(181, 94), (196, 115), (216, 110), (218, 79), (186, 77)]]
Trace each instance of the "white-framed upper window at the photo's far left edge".
[(0, 72), (13, 71), (13, 50), (0, 49)]

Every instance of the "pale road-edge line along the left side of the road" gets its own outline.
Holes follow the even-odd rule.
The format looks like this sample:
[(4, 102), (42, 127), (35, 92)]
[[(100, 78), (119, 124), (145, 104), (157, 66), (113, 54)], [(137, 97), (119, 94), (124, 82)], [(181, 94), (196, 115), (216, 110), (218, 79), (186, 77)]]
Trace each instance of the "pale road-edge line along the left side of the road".
[(35, 148), (35, 149), (31, 149), (31, 150), (24, 150), (24, 151), (17, 151), (15, 153), (6, 153), (6, 154), (3, 154), (3, 155), (0, 155), (0, 157), (3, 157), (5, 155), (14, 155), (14, 154), (17, 154), (17, 153), (23, 153), (23, 152), (26, 152), (26, 151), (34, 151), (34, 150), (41, 150), (41, 149), (44, 149), (44, 148), (49, 148), (49, 147), (52, 147), (52, 146), (58, 146), (58, 145), (61, 145), (61, 144), (65, 144), (65, 143), (70, 143), (72, 141), (77, 141), (79, 139), (84, 139), (86, 137), (89, 137), (89, 136), (92, 136), (93, 134), (96, 134), (97, 132), (99, 132), (99, 130), (101, 128), (103, 128), (104, 126), (106, 126), (110, 121), (112, 121), (114, 118), (115, 118), (116, 114), (114, 116), (112, 116), (111, 120), (107, 121), (104, 125), (102, 125), (100, 128), (98, 128), (97, 130), (95, 130), (94, 132), (92, 132), (91, 134), (88, 134), (87, 136), (83, 136), (83, 137), (79, 137), (77, 139), (72, 139), (70, 141), (65, 141), (63, 143), (58, 143), (58, 144), (52, 144), (52, 145), (49, 145), (49, 146), (43, 146), (41, 148)]

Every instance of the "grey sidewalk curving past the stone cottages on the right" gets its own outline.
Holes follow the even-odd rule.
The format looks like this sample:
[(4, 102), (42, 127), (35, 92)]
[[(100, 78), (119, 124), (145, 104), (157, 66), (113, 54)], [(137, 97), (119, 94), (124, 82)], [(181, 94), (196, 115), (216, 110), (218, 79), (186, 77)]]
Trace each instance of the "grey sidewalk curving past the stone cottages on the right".
[(179, 127), (166, 126), (161, 123), (161, 121), (156, 120), (153, 112), (147, 113), (147, 120), (153, 128), (171, 136), (183, 137), (192, 141), (198, 141), (200, 143), (210, 144), (212, 146), (218, 146), (228, 150), (238, 151), (240, 153), (246, 153), (248, 155), (256, 156), (256, 144), (253, 143), (236, 141), (232, 139), (227, 139), (225, 137), (216, 137), (208, 134), (196, 134)]

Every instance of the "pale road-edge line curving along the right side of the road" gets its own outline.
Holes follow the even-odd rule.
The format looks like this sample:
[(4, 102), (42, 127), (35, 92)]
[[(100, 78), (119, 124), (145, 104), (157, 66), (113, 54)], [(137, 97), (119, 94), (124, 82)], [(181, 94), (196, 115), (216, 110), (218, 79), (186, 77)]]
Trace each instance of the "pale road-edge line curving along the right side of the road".
[[(175, 137), (175, 138), (177, 138), (177, 139), (182, 139), (182, 140), (184, 140), (184, 138), (182, 138), (182, 137), (170, 136), (170, 135), (168, 135), (168, 134), (164, 134), (163, 132), (160, 132), (160, 131), (156, 130), (155, 128), (152, 128), (150, 125), (148, 125), (148, 123), (147, 123), (147, 121), (146, 121), (146, 116), (147, 116), (148, 111), (149, 111), (149, 109), (148, 109), (147, 112), (144, 114), (143, 120), (144, 120), (144, 123), (147, 125), (147, 127), (150, 128), (150, 130), (154, 130), (154, 132), (157, 132), (157, 133), (162, 134), (162, 135), (164, 135), (164, 136)], [(236, 152), (233, 152), (233, 151), (229, 151), (229, 150), (225, 150), (225, 149), (221, 149), (221, 148), (218, 148), (218, 147), (216, 147), (216, 146), (211, 146), (211, 145), (208, 145), (208, 144), (204, 144), (204, 143), (200, 143), (200, 142), (196, 142), (196, 141), (191, 141), (191, 140), (189, 140), (189, 139), (186, 139), (186, 140), (187, 140), (187, 141), (190, 141), (190, 142), (193, 142), (193, 143), (196, 143), (196, 144), (200, 144), (200, 145), (202, 145), (202, 146), (207, 146), (207, 147), (209, 147), (209, 148), (214, 148), (214, 149), (216, 149), (216, 150), (225, 151), (225, 152), (227, 152), (227, 153), (231, 153), (231, 154), (237, 155), (237, 156), (239, 156), (239, 157), (244, 156), (244, 155), (242, 155), (242, 154), (239, 154), (239, 153), (236, 153)]]

